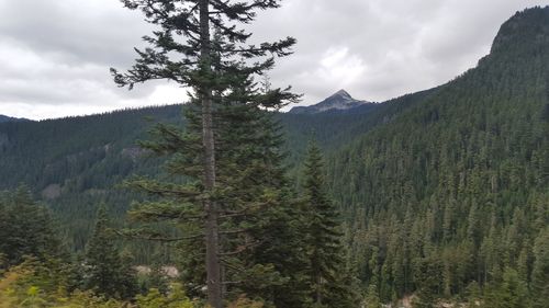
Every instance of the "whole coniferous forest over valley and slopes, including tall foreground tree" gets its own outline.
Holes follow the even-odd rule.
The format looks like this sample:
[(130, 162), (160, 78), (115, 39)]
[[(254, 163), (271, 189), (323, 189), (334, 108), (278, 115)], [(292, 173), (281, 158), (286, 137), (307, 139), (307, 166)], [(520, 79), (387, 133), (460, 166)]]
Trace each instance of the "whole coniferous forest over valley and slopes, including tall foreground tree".
[[(179, 105), (0, 118), (0, 307), (525, 307), (549, 303), (549, 7), (477, 67), (373, 105), (281, 112), (280, 1), (122, 0), (131, 67)], [(114, 85), (113, 85), (114, 87)]]

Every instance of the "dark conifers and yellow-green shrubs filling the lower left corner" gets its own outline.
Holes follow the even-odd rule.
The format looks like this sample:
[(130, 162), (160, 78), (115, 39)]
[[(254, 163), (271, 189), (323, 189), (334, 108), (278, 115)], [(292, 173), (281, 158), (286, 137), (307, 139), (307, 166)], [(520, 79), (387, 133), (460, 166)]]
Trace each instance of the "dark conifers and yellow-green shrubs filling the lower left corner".
[(104, 206), (83, 255), (63, 247), (57, 224), (24, 186), (2, 192), (0, 209), (0, 307), (203, 307), (176, 282), (166, 282), (168, 294), (152, 274), (138, 280), (132, 256), (115, 246)]

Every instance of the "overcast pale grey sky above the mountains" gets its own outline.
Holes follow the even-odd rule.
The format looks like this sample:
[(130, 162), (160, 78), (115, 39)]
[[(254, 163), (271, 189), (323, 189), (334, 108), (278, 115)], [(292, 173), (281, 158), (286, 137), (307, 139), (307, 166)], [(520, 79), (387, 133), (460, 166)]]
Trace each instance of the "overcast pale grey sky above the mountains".
[[(488, 55), (500, 25), (535, 0), (283, 0), (253, 41), (293, 36), (270, 75), (301, 105), (339, 89), (382, 102), (451, 80)], [(0, 114), (32, 119), (184, 102), (173, 82), (117, 88), (154, 30), (117, 0), (0, 0)]]

